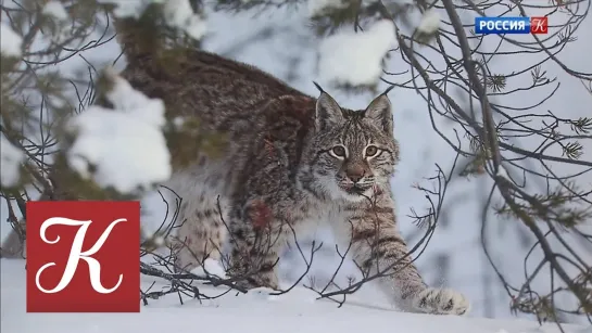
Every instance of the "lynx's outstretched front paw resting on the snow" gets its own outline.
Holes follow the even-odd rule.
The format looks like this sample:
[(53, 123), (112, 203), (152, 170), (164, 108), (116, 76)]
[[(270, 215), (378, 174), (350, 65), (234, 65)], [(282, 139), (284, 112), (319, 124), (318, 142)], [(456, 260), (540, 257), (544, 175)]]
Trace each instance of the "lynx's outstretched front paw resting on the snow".
[(462, 316), (468, 312), (470, 304), (458, 292), (430, 287), (417, 294), (414, 307), (425, 313)]

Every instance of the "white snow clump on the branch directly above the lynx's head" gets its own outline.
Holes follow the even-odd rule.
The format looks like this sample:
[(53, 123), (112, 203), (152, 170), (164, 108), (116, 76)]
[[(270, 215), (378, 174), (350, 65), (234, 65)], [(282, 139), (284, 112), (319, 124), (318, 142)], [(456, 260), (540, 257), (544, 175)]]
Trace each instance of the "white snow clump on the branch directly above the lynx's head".
[(376, 85), (382, 60), (395, 46), (394, 25), (388, 20), (363, 33), (347, 30), (329, 36), (319, 46), (319, 79), (337, 85)]

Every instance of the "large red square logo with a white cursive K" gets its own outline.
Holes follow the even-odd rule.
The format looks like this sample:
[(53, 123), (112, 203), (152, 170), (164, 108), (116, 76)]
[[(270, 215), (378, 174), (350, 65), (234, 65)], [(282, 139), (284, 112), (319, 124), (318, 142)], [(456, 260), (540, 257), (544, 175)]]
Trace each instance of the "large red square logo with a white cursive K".
[(27, 312), (139, 312), (139, 202), (28, 202)]

